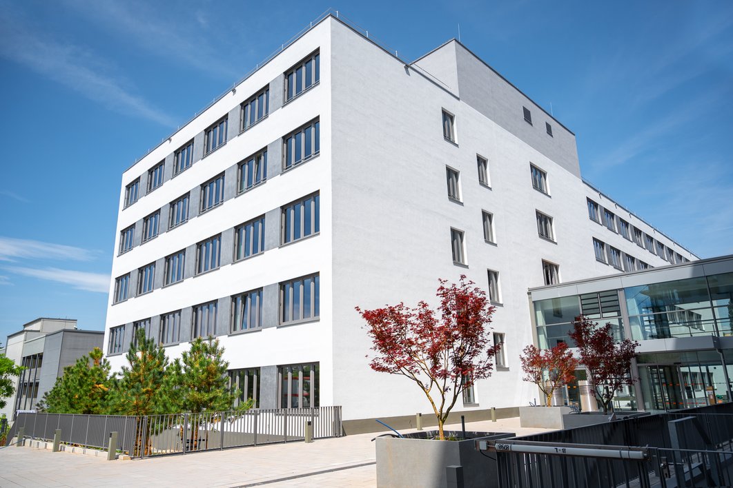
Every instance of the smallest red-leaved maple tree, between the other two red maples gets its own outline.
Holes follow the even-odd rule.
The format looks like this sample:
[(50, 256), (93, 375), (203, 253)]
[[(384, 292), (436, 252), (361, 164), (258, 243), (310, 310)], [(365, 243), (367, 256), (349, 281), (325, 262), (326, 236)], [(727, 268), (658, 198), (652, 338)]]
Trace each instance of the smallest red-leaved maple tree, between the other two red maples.
[(522, 379), (537, 385), (545, 394), (547, 398), (545, 405), (548, 407), (552, 405), (553, 391), (575, 379), (574, 372), (579, 363), (564, 342), (560, 342), (552, 349), (544, 350), (528, 345), (519, 359), (522, 361), (524, 371)]

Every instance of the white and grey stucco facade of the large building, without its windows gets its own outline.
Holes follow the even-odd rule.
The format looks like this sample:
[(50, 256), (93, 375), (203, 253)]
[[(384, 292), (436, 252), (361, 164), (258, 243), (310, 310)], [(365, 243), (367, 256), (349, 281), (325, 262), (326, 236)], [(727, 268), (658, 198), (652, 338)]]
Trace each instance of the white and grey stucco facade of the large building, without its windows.
[[(283, 104), (284, 73), (316, 50), (317, 85)], [(268, 84), (269, 115), (240, 133), (240, 103)], [(523, 107), (532, 125), (523, 120)], [(443, 110), (454, 116), (455, 143), (443, 138)], [(202, 146), (203, 132), (227, 113), (226, 144), (200, 157), (196, 144)], [(282, 138), (314, 119), (320, 121), (320, 152), (283, 170)], [(172, 155), (189, 140), (199, 156), (172, 176)], [(237, 193), (237, 163), (263, 148), (266, 182)], [(477, 155), (488, 161), (488, 186), (479, 184)], [(146, 193), (148, 170), (163, 161), (166, 181)], [(546, 173), (547, 193), (533, 188), (530, 165)], [(459, 172), (459, 202), (448, 198), (446, 166)], [(195, 217), (194, 210), (188, 222), (168, 230), (163, 217), (170, 203), (191, 192), (193, 209), (200, 185), (219, 173), (224, 202)], [(125, 189), (139, 177), (141, 196), (125, 208)], [(281, 244), (281, 206), (314, 192), (320, 195), (320, 231)], [(276, 367), (317, 363), (320, 405), (342, 405), (345, 419), (408, 415), (427, 411), (427, 404), (405, 378), (369, 369), (369, 339), (354, 307), (430, 301), (438, 278), (455, 281), (460, 274), (486, 288), (491, 269), (498, 271), (501, 290), (493, 328), (505, 334), (507, 367), (476, 384), (477, 405), (456, 409), (526, 405), (536, 394), (520, 380), (518, 355), (533, 342), (527, 289), (544, 284), (542, 260), (559, 266), (561, 281), (616, 272), (596, 259), (596, 238), (651, 266), (666, 263), (589, 219), (586, 198), (683, 258), (696, 259), (583, 183), (575, 136), (463, 45), (448, 42), (405, 64), (329, 16), (123, 173), (105, 344), (109, 348), (110, 329), (123, 325), (128, 343), (133, 323), (147, 318), (151, 334), (159, 334), (160, 315), (182, 310), (180, 341), (166, 345), (169, 356), (180, 356), (191, 338), (191, 313), (185, 311), (217, 301), (216, 336), (225, 359), (230, 369), (260, 368), (261, 407), (279, 406)], [(158, 236), (141, 242), (144, 218), (159, 209)], [(493, 243), (484, 239), (482, 211), (493, 214)], [(553, 240), (538, 236), (537, 211), (553, 218)], [(262, 215), (265, 252), (232, 262), (233, 229)], [(134, 245), (118, 255), (122, 230), (131, 225)], [(451, 228), (464, 233), (465, 266), (453, 262)], [(221, 266), (196, 275), (187, 264), (182, 281), (164, 284), (159, 274), (166, 256), (186, 249), (187, 263), (195, 260), (196, 243), (218, 233)], [(136, 270), (153, 262), (156, 285), (136, 296)], [(128, 273), (128, 297), (114, 303), (116, 281)], [(320, 278), (319, 317), (281, 324), (279, 284), (313, 274)], [(231, 333), (230, 297), (257, 288), (263, 307), (270, 307), (262, 311), (262, 327)], [(110, 353), (114, 369), (124, 364), (125, 349)]]

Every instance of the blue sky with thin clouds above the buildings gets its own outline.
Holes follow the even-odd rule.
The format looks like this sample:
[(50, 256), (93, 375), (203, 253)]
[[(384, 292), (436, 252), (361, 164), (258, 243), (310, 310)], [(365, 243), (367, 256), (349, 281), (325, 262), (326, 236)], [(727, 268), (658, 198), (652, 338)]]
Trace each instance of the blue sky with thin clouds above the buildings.
[(575, 132), (586, 179), (733, 253), (733, 2), (0, 0), (0, 342), (103, 329), (122, 170), (329, 7), (407, 61), (460, 24)]

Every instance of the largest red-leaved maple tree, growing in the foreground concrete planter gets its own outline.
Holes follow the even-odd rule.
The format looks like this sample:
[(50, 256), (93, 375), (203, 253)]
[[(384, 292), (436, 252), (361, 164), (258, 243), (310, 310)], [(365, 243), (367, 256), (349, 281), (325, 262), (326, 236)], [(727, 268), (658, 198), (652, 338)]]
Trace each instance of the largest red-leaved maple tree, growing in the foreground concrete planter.
[(476, 380), (491, 375), (499, 346), (489, 344), (494, 307), (486, 293), (463, 275), (458, 285), (439, 281), (437, 310), (420, 301), (415, 308), (399, 303), (356, 311), (367, 321), (372, 338), (369, 366), (417, 383), (438, 418), (438, 438), (443, 440), (443, 424), (456, 400)]

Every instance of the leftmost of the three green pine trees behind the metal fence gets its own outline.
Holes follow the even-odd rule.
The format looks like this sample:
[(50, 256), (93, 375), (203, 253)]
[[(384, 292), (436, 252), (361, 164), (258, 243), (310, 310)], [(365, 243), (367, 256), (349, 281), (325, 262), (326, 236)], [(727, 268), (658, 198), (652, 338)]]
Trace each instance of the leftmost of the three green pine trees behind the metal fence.
[(109, 370), (102, 350), (94, 348), (64, 368), (64, 375), (56, 379), (54, 388), (43, 396), (38, 407), (48, 413), (108, 413), (109, 391), (114, 383)]

